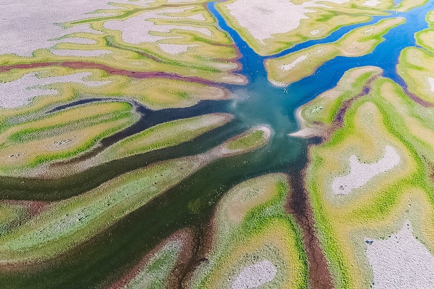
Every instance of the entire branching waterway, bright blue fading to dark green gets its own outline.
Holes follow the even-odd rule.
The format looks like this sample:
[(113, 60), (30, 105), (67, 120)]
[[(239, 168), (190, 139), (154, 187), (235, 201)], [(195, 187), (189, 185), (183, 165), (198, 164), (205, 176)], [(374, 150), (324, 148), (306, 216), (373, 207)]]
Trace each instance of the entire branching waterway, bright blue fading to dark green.
[[(192, 142), (115, 160), (68, 178), (44, 181), (2, 178), (0, 185), (5, 188), (2, 193), (3, 197), (11, 198), (12, 196), (11, 199), (40, 201), (65, 199), (81, 194), (104, 181), (138, 167), (144, 167), (163, 159), (203, 152), (258, 124), (266, 124), (273, 129), (274, 133), (270, 142), (260, 150), (222, 159), (208, 165), (171, 188), (163, 196), (132, 212), (114, 227), (54, 261), (47, 261), (43, 266), (40, 263), (30, 264), (24, 273), (14, 270), (2, 273), (0, 284), (13, 284), (17, 288), (104, 287), (121, 277), (143, 255), (175, 231), (190, 227), (202, 234), (216, 202), (231, 186), (269, 172), (288, 173), (292, 176), (293, 182), (296, 182), (300, 178), (300, 171), (306, 166), (309, 144), (319, 141), (294, 138), (288, 135), (298, 129), (295, 117), (297, 108), (314, 99), (319, 93), (334, 87), (345, 71), (359, 66), (379, 66), (384, 70), (384, 76), (393, 79), (405, 88), (403, 80), (396, 73), (399, 54), (405, 47), (415, 46), (414, 33), (427, 27), (423, 19), (428, 11), (434, 9), (434, 2), (431, 1), (410, 12), (393, 12), (389, 16), (374, 17), (369, 23), (343, 27), (327, 38), (308, 41), (277, 55), (263, 57), (256, 54), (240, 35), (227, 25), (214, 8), (214, 4), (209, 3), (207, 8), (217, 19), (222, 30), (228, 32), (234, 39), (242, 55), (239, 59), (242, 68), (237, 72), (246, 75), (249, 83), (247, 85), (225, 85), (232, 93), (232, 101), (206, 101), (193, 108), (154, 113), (144, 118), (146, 124), (142, 124), (142, 127), (135, 126), (127, 134), (146, 129), (150, 124), (155, 125), (170, 119), (209, 112), (231, 113), (235, 116), (234, 121)], [(403, 17), (406, 23), (391, 29), (384, 36), (385, 41), (379, 44), (372, 53), (361, 57), (336, 57), (322, 65), (315, 74), (287, 87), (274, 86), (267, 80), (263, 64), (266, 58), (286, 55), (314, 44), (332, 42), (356, 27), (373, 24), (390, 17)], [(150, 114), (150, 111), (143, 109), (141, 113), (146, 115)], [(171, 117), (167, 117), (168, 115)], [(153, 116), (158, 117), (158, 120)], [(32, 197), (29, 198), (29, 196)], [(189, 210), (188, 204), (191, 202), (199, 204), (198, 211)], [(303, 202), (293, 202), (293, 205), (297, 204), (304, 206)], [(296, 214), (298, 208), (292, 209)], [(197, 242), (206, 241), (203, 236), (196, 239)], [(189, 263), (194, 264), (195, 262), (192, 260)], [(185, 271), (183, 274), (185, 275)], [(12, 288), (13, 286), (7, 287)]]

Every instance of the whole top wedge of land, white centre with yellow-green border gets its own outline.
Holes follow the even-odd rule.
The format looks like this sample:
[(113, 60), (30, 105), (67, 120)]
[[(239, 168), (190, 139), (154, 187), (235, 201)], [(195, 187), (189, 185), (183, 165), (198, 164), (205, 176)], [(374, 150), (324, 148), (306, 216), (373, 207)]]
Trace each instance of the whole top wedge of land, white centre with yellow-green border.
[[(341, 27), (368, 22), (372, 16), (388, 15), (386, 10), (394, 6), (391, 0), (381, 1), (376, 7), (365, 6), (365, 2), (232, 0), (217, 3), (216, 8), (256, 53), (273, 55), (298, 43), (323, 39)], [(290, 22), (281, 11), (293, 12)], [(258, 23), (269, 23), (268, 30)]]

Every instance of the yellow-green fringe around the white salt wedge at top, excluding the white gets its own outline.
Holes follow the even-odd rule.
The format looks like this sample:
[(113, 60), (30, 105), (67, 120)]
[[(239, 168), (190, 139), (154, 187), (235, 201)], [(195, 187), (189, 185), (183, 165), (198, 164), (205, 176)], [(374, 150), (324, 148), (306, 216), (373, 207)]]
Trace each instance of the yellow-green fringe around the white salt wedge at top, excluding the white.
[[(309, 7), (311, 12), (305, 13), (308, 19), (301, 19), (300, 25), (286, 33), (276, 33), (272, 38), (264, 39), (262, 42), (254, 38), (246, 27), (242, 27), (238, 21), (230, 14), (228, 5), (236, 2), (231, 0), (216, 4), (216, 8), (228, 24), (234, 28), (241, 37), (255, 50), (259, 55), (273, 55), (291, 48), (298, 43), (311, 39), (322, 39), (341, 27), (368, 22), (372, 16), (386, 16), (386, 10), (394, 6), (393, 1), (382, 1), (376, 7), (363, 6), (366, 0), (348, 1), (346, 3), (334, 4), (332, 2), (322, 2), (326, 6)], [(421, 0), (425, 1), (426, 0)], [(303, 0), (292, 1), (296, 5), (302, 4)], [(410, 1), (408, 1), (410, 2)], [(321, 3), (321, 2), (320, 2)], [(404, 3), (402, 9), (410, 9), (411, 3)], [(259, 9), (259, 8), (258, 8)], [(263, 8), (264, 10), (267, 7)], [(311, 34), (311, 31), (318, 31), (317, 34)]]

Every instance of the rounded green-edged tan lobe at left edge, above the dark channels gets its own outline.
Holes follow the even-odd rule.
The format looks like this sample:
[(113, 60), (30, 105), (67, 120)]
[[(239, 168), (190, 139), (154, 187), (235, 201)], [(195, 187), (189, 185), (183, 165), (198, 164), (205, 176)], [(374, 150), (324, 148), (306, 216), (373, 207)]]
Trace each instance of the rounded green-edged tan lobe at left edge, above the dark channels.
[(76, 157), (137, 119), (129, 103), (104, 102), (5, 125), (0, 134), (0, 171), (11, 174), (14, 169)]

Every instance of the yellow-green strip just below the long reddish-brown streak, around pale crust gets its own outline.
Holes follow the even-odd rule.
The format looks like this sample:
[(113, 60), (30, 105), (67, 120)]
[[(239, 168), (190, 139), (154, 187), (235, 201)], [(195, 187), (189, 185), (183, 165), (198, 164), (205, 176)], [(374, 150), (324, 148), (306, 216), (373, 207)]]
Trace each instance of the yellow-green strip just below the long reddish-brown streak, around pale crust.
[(221, 100), (227, 98), (227, 91), (205, 84), (175, 80), (169, 78), (135, 79), (123, 75), (109, 74), (102, 69), (73, 69), (60, 66), (48, 66), (28, 69), (12, 69), (0, 73), (0, 82), (9, 82), (21, 78), (27, 73), (36, 73), (37, 77), (64, 76), (79, 72), (91, 72), (89, 81), (105, 81), (101, 86), (85, 86), (76, 82), (52, 83), (42, 88), (57, 90), (57, 94), (44, 95), (30, 100), (29, 105), (14, 109), (0, 108), (4, 120), (13, 116), (37, 113), (46, 107), (81, 100), (83, 98), (119, 98), (131, 99), (151, 109), (183, 108), (197, 104), (200, 100)]

